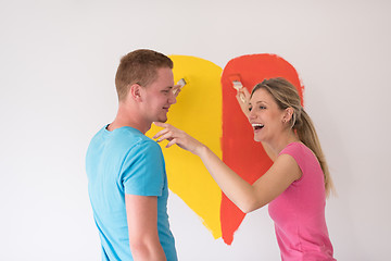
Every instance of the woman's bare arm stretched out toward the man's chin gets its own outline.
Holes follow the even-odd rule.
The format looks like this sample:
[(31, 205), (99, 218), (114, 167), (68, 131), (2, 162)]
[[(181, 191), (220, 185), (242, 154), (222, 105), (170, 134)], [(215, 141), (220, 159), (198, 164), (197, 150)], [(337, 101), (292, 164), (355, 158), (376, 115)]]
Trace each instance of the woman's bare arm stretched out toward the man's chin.
[(250, 185), (197, 139), (169, 124), (155, 124), (164, 129), (154, 138), (159, 138), (157, 141), (169, 140), (167, 148), (176, 144), (199, 156), (224, 194), (244, 213), (267, 204), (302, 175), (294, 159), (291, 156), (281, 154), (263, 176)]

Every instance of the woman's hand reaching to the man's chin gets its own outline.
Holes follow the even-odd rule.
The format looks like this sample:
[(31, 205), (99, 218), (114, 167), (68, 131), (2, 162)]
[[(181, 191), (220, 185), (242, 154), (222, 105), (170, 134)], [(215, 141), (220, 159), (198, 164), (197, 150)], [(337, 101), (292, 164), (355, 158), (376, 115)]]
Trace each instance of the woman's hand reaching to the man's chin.
[(180, 148), (190, 151), (193, 154), (199, 156), (200, 150), (204, 148), (205, 146), (185, 133), (184, 130), (180, 130), (179, 128), (174, 127), (173, 125), (169, 125), (167, 123), (161, 123), (161, 122), (154, 122), (154, 124), (157, 127), (163, 127), (164, 129), (156, 133), (153, 138), (156, 139), (156, 141), (161, 142), (164, 139), (167, 139), (169, 142), (167, 144), (166, 148), (172, 147), (173, 145), (177, 145)]

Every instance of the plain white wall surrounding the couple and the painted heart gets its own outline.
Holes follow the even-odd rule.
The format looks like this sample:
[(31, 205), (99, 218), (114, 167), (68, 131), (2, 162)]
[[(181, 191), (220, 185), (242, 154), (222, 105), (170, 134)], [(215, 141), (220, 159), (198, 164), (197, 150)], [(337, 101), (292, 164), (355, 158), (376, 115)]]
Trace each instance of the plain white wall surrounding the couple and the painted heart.
[[(299, 72), (338, 198), (339, 260), (386, 260), (391, 234), (389, 1), (5, 1), (0, 3), (0, 259), (100, 260), (87, 194), (89, 139), (113, 120), (119, 58), (137, 48), (232, 58), (277, 53)], [(180, 260), (279, 260), (267, 209), (232, 246), (174, 194)]]

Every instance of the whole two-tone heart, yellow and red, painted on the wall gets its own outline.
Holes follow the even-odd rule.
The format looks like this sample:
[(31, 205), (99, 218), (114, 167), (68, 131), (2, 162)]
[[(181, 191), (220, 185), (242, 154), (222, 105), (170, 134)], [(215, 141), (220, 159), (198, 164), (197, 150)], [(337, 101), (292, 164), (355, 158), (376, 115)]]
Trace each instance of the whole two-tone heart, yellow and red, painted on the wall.
[[(251, 91), (265, 78), (285, 77), (303, 98), (304, 86), (295, 69), (275, 54), (249, 54), (230, 60), (224, 70), (195, 57), (169, 55), (174, 79), (187, 85), (168, 113), (167, 123), (184, 129), (209, 146), (237, 174), (253, 184), (272, 165), (242, 113), (232, 88), (231, 76), (239, 76)], [(302, 99), (303, 100), (303, 99)], [(147, 133), (152, 137), (156, 126)], [(245, 214), (224, 194), (207, 173), (201, 160), (176, 146), (165, 149), (169, 189), (178, 195), (202, 220), (214, 238), (231, 245), (234, 234)]]

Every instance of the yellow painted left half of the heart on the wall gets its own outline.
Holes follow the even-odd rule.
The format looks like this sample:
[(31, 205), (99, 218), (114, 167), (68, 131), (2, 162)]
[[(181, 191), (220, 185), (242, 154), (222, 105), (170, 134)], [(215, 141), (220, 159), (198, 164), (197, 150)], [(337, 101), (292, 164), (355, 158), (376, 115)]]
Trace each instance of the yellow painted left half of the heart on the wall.
[[(185, 130), (210, 147), (222, 158), (222, 87), (223, 70), (216, 64), (195, 57), (171, 55), (174, 62), (174, 80), (187, 80), (168, 112), (167, 123)], [(147, 133), (152, 137), (156, 126)], [(207, 173), (202, 161), (177, 146), (165, 148), (169, 189), (178, 195), (203, 221), (214, 238), (222, 236), (222, 190)]]

